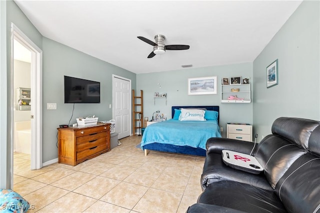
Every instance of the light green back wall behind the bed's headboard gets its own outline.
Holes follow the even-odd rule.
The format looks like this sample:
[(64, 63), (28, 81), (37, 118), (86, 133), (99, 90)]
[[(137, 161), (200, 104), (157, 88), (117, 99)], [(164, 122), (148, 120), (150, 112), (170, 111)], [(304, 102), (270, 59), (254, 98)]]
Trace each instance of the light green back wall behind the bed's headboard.
[[(188, 95), (188, 78), (217, 76), (217, 94)], [(250, 77), (252, 83), (252, 63), (228, 64), (202, 68), (185, 68), (166, 72), (137, 74), (137, 92), (143, 90), (143, 115), (152, 117), (152, 113), (160, 110), (171, 118), (173, 105), (219, 105), (220, 126), (224, 131), (227, 122), (245, 122), (252, 124), (252, 103), (221, 103), (221, 78), (230, 76)], [(161, 88), (157, 85), (159, 83)], [(156, 99), (153, 93), (167, 93), (164, 99)]]

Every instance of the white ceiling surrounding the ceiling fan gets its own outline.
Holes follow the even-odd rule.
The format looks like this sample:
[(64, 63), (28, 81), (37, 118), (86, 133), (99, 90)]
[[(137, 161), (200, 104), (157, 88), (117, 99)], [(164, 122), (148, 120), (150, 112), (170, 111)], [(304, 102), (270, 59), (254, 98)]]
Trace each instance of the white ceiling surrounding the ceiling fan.
[[(39, 32), (134, 73), (252, 62), (301, 0), (15, 0)], [(190, 45), (147, 58), (156, 34)], [(187, 69), (187, 68), (186, 68)]]

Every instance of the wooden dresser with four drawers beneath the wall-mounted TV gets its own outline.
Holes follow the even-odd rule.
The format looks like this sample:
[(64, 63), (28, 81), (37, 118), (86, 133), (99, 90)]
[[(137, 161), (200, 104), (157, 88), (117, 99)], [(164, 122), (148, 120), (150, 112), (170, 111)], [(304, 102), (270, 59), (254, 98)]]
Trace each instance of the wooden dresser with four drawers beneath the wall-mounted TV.
[(58, 129), (58, 162), (76, 165), (110, 150), (110, 123)]

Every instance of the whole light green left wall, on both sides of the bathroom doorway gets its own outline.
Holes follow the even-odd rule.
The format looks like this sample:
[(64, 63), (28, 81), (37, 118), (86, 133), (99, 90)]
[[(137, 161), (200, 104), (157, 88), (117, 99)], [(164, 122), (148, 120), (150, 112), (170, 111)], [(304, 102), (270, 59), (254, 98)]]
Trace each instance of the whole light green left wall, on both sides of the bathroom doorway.
[[(75, 104), (73, 117), (70, 123), (75, 123), (76, 117), (95, 114), (99, 119), (111, 119), (112, 110), (112, 74), (131, 79), (132, 88), (136, 86), (136, 74), (115, 65), (89, 56), (75, 49), (43, 37), (33, 24), (22, 13), (12, 0), (0, 1), (1, 15), (1, 90), (0, 90), (0, 187), (9, 188), (11, 181), (11, 77), (10, 77), (10, 25), (13, 22), (28, 38), (42, 49), (42, 149), (43, 162), (57, 158), (56, 133), (59, 124), (68, 123), (73, 104), (64, 104), (63, 100), (63, 75), (86, 78), (101, 82), (101, 103)], [(6, 21), (5, 21), (6, 20)], [(4, 22), (5, 21), (5, 22)], [(2, 45), (5, 48), (2, 48)], [(5, 57), (3, 56), (3, 50)], [(5, 61), (6, 60), (6, 61)], [(3, 64), (4, 63), (4, 64)], [(4, 82), (2, 82), (4, 81)], [(3, 88), (3, 86), (5, 86)], [(47, 110), (46, 103), (57, 103), (56, 110)], [(5, 118), (5, 119), (4, 119)], [(3, 149), (2, 149), (3, 148)]]

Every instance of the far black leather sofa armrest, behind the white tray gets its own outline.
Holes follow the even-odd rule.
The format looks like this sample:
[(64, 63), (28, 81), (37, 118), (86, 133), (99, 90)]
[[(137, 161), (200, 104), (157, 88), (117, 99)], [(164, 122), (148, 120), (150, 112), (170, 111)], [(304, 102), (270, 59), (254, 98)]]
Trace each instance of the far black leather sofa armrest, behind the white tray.
[(226, 149), (230, 151), (250, 154), (253, 146), (254, 142), (222, 137), (211, 137), (206, 141), (206, 152), (221, 154), (222, 150)]

